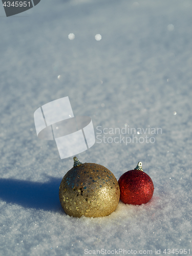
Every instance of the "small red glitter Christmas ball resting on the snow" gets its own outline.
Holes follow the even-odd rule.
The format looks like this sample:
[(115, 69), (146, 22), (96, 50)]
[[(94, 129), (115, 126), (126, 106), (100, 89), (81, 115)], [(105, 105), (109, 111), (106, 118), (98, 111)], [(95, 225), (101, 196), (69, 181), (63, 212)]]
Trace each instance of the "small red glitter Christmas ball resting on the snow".
[(153, 181), (142, 170), (138, 162), (134, 170), (129, 170), (119, 178), (120, 200), (125, 204), (146, 204), (153, 196)]

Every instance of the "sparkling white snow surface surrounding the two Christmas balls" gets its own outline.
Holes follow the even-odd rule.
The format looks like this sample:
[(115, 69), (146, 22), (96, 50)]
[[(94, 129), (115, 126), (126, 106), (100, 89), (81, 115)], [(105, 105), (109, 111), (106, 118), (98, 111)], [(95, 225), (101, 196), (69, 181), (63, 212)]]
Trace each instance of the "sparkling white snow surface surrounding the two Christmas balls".
[[(119, 248), (146, 250), (141, 255), (186, 248), (189, 255), (191, 13), (190, 0), (41, 0), (11, 17), (0, 7), (0, 255), (112, 255)], [(65, 214), (58, 188), (73, 158), (60, 160), (53, 141), (37, 138), (33, 120), (39, 106), (65, 96), (74, 115), (92, 118), (96, 136), (97, 126), (108, 129), (109, 142), (120, 136), (110, 128), (155, 128), (147, 133), (154, 143), (96, 139), (77, 155), (117, 179), (142, 161), (155, 187), (150, 202), (119, 202), (103, 218)]]

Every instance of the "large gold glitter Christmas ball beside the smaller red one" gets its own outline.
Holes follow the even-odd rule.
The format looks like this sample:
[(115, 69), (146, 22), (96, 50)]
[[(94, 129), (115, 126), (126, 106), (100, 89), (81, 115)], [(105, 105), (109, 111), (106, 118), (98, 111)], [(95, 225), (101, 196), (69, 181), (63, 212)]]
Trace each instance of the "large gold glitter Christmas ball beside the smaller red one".
[(109, 169), (96, 163), (81, 163), (63, 177), (59, 200), (66, 214), (73, 217), (103, 217), (113, 212), (119, 202), (120, 189)]

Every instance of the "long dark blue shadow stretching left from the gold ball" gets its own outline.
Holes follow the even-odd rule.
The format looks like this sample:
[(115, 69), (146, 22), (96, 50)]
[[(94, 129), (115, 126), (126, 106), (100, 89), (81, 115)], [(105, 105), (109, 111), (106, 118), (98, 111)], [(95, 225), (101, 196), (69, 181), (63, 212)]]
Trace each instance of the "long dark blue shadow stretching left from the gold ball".
[[(50, 177), (49, 182), (39, 183), (15, 179), (0, 179), (0, 198), (7, 203), (26, 208), (60, 211), (59, 185), (62, 178)], [(64, 211), (63, 211), (64, 212)]]

